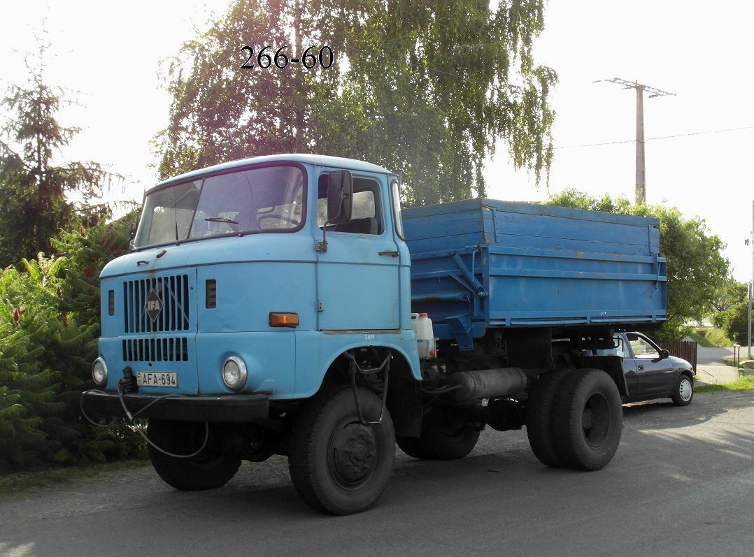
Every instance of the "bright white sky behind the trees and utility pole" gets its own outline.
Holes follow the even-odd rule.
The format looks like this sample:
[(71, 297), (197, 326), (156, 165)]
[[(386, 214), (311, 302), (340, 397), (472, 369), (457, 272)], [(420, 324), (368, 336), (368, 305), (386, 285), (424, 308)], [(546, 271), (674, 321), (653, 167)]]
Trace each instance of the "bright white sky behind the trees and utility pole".
[[(60, 121), (85, 128), (65, 157), (129, 176), (116, 197), (140, 200), (156, 179), (149, 140), (167, 124), (160, 60), (227, 2), (0, 0), (0, 90), (23, 84), (17, 52), (35, 50), (33, 33), (44, 19), (52, 44), (48, 81), (81, 105), (66, 109)], [(744, 240), (754, 226), (752, 20), (754, 4), (744, 0), (551, 0), (536, 47), (538, 63), (560, 77), (551, 100), (557, 118), (549, 191), (577, 188), (633, 200), (636, 93), (593, 81), (617, 77), (676, 93), (644, 99), (647, 201), (705, 219), (728, 243), (734, 277), (751, 280), (752, 247)], [(249, 41), (238, 39), (239, 46)], [(547, 197), (547, 185), (535, 188), (532, 176), (510, 170), (504, 145), (486, 176), (489, 197)]]

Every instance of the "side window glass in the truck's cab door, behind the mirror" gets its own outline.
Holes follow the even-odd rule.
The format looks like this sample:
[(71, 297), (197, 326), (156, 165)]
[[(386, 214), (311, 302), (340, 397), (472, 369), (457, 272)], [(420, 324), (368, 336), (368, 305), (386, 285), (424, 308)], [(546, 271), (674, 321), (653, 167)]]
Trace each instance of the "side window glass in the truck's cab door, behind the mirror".
[[(317, 225), (325, 225), (327, 215), (327, 176), (320, 176), (317, 195)], [(382, 234), (385, 227), (380, 210), (379, 185), (374, 180), (354, 178), (354, 202), (351, 209), (351, 222), (328, 227), (328, 231), (350, 232), (351, 234)]]

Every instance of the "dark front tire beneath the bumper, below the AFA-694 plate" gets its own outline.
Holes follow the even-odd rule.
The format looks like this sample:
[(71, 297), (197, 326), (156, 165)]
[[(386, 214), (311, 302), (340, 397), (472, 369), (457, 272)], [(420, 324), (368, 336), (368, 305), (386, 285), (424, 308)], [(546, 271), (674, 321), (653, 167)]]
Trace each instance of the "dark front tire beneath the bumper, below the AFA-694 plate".
[[(201, 447), (210, 427), (204, 422), (150, 420), (149, 440), (173, 454), (192, 454)], [(168, 485), (182, 491), (200, 491), (225, 485), (238, 472), (241, 459), (218, 454), (208, 446), (191, 458), (176, 458), (148, 446), (149, 460)]]

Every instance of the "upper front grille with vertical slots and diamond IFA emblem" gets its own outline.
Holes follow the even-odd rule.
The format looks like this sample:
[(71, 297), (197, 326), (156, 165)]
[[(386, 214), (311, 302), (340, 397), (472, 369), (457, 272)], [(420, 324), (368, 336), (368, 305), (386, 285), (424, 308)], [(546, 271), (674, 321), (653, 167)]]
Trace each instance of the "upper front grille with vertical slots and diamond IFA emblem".
[(123, 283), (125, 332), (189, 330), (189, 275)]

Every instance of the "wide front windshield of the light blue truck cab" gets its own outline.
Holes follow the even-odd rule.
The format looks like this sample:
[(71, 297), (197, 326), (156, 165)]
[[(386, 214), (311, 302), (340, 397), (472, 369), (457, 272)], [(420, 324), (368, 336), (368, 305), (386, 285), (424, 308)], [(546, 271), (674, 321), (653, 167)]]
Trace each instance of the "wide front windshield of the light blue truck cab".
[(225, 234), (293, 231), (302, 224), (299, 167), (261, 167), (171, 185), (147, 195), (133, 246)]

